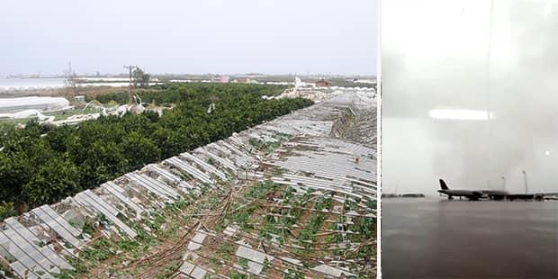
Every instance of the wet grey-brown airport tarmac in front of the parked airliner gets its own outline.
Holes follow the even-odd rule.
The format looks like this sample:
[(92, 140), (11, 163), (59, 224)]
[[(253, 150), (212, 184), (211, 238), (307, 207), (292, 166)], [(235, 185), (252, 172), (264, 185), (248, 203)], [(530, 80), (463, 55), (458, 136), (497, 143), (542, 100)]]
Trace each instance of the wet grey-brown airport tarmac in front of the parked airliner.
[(383, 278), (558, 278), (558, 202), (383, 199)]

